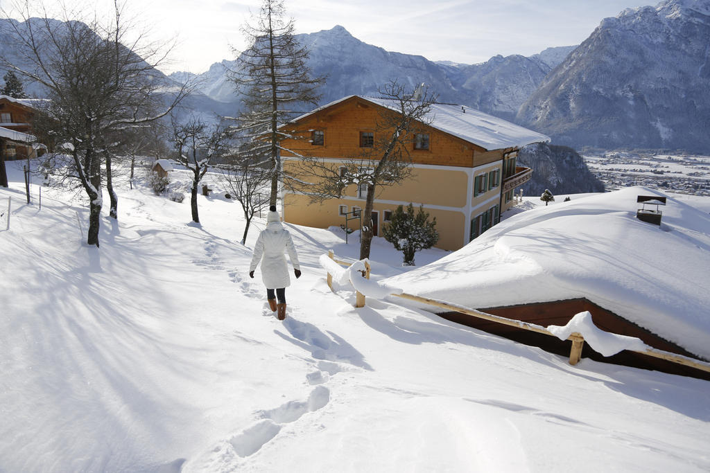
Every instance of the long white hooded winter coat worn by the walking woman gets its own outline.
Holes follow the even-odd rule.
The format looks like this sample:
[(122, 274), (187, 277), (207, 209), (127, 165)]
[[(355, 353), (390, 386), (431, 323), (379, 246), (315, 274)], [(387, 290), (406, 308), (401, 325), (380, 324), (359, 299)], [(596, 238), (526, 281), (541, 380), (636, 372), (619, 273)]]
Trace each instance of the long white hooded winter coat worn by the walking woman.
[(293, 269), (300, 270), (291, 234), (283, 228), (279, 220), (277, 212), (268, 213), (266, 220), (268, 223), (256, 239), (254, 255), (249, 266), (249, 272), (252, 272), (261, 261), (261, 279), (266, 289), (279, 289), (291, 284), (284, 250), (288, 251)]

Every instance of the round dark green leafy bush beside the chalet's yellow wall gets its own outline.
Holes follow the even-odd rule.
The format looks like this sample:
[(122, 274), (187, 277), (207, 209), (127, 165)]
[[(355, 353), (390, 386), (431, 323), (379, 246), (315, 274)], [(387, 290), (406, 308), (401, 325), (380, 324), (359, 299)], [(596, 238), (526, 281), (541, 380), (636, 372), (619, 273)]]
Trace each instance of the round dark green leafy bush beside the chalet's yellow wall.
[(429, 220), (429, 213), (422, 206), (414, 213), (412, 204), (398, 206), (392, 214), (390, 223), (383, 228), (385, 240), (392, 243), (396, 250), (404, 254), (404, 266), (414, 266), (414, 254), (434, 246), (439, 241), (436, 230), (437, 218)]

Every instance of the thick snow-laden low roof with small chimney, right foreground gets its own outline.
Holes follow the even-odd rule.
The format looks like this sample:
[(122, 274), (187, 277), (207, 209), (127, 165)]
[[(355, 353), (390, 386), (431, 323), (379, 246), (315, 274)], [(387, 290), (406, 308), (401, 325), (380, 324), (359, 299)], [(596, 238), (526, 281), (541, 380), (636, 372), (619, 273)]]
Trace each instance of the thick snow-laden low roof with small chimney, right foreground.
[(661, 226), (645, 223), (642, 194), (662, 195), (630, 187), (519, 213), (386, 282), (473, 308), (586, 297), (710, 358), (710, 215), (668, 197)]

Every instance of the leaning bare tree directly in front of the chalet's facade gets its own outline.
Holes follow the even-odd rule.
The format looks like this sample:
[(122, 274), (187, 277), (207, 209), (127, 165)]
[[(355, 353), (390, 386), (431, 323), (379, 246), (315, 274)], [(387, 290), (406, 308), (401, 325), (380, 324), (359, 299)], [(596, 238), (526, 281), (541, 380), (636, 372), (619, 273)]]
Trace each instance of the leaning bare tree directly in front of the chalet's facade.
[[(374, 128), (371, 146), (360, 155), (346, 157), (339, 165), (317, 157), (301, 155), (302, 165), (286, 176), (286, 185), (310, 196), (312, 201), (340, 199), (345, 189), (355, 184), (366, 194), (360, 258), (370, 257), (373, 237), (372, 208), (381, 187), (400, 184), (411, 175), (410, 149), (425, 132), (427, 113), (435, 102), (423, 84), (414, 91), (393, 80), (381, 90), (382, 105)], [(304, 185), (307, 183), (306, 185)]]

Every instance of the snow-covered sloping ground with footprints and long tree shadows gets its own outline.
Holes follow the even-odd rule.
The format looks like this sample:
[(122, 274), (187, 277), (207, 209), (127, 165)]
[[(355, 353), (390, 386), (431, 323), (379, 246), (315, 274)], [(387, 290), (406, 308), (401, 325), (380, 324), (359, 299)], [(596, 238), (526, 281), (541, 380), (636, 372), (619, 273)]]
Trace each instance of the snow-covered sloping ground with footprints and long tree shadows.
[[(354, 260), (358, 245), (330, 230), (287, 226), (303, 276), (278, 321), (247, 274), (264, 221), (240, 245), (239, 204), (200, 196), (195, 226), (189, 199), (124, 184), (119, 221), (102, 218), (97, 249), (84, 244), (77, 213), (85, 236), (87, 210), (71, 193), (43, 189), (40, 210), (33, 185), (24, 204), (18, 164), (0, 188), (0, 213), (12, 199), (9, 230), (0, 217), (2, 472), (710, 469), (706, 381), (573, 367), (388, 300), (354, 308), (353, 291), (328, 289), (318, 259), (333, 249)], [(568, 204), (529, 213), (542, 226)], [(687, 240), (668, 210), (672, 231), (659, 231)], [(706, 233), (694, 234), (700, 247)], [(407, 272), (378, 239), (373, 279), (404, 284), (456, 254), (422, 252)], [(498, 274), (523, 279), (530, 267)]]

